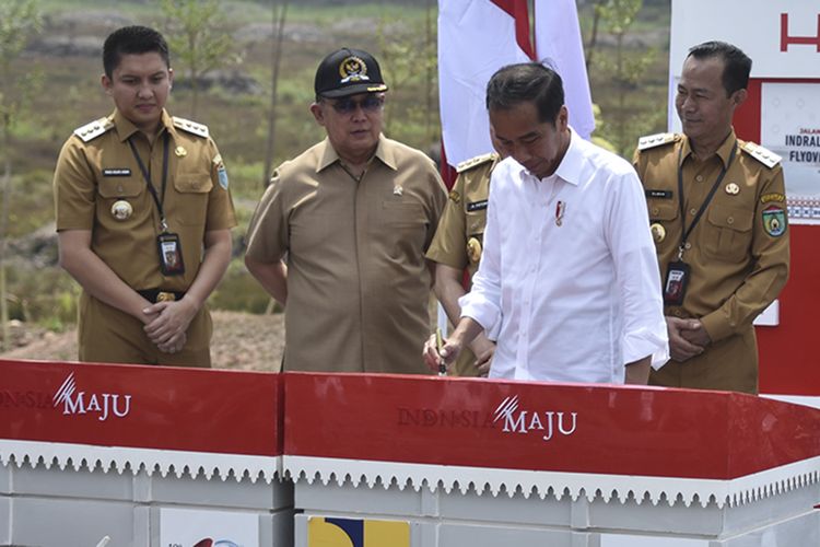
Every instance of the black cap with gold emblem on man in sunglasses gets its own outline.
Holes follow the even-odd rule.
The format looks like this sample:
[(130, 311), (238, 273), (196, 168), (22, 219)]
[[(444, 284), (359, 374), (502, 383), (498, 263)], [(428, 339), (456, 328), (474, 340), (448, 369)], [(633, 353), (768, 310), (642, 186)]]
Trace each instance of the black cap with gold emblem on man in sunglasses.
[(336, 98), (387, 91), (376, 59), (361, 49), (343, 47), (325, 57), (316, 69), (317, 96)]

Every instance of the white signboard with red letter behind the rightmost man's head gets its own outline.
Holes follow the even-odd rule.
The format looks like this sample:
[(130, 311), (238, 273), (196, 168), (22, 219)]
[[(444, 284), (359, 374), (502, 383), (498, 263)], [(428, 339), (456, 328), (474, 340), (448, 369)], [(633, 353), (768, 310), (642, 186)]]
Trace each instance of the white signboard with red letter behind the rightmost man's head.
[(820, 2), (672, 0), (673, 75), (690, 47), (728, 42), (752, 59), (752, 78), (820, 78)]

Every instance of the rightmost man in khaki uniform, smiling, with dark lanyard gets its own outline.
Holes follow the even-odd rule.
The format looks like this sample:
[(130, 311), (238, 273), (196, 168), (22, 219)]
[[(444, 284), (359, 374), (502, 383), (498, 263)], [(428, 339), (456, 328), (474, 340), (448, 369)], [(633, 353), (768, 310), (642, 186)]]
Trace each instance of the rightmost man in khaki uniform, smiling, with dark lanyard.
[(653, 384), (758, 392), (752, 321), (786, 282), (788, 233), (780, 158), (731, 128), (750, 70), (729, 44), (690, 49), (676, 96), (683, 135), (642, 138), (635, 152), (672, 357)]

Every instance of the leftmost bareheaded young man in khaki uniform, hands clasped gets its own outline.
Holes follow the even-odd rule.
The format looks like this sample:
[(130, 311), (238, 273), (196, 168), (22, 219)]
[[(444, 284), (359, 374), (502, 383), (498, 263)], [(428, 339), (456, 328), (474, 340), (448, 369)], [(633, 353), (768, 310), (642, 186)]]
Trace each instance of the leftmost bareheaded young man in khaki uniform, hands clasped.
[(162, 35), (120, 28), (103, 63), (116, 109), (74, 131), (54, 179), (60, 264), (83, 288), (79, 358), (210, 366), (204, 302), (236, 224), (224, 164), (207, 127), (164, 109)]

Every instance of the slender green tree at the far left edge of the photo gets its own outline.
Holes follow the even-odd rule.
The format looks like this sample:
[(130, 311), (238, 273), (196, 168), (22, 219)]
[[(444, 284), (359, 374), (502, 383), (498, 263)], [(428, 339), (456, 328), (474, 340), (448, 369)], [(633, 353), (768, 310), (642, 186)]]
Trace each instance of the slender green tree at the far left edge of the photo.
[(2, 348), (9, 344), (9, 295), (5, 287), (5, 238), (11, 209), (11, 176), (14, 127), (35, 94), (39, 78), (36, 71), (23, 77), (12, 74), (12, 66), (28, 39), (42, 30), (36, 0), (0, 2), (0, 161), (3, 165), (2, 207), (0, 207), (0, 323)]

